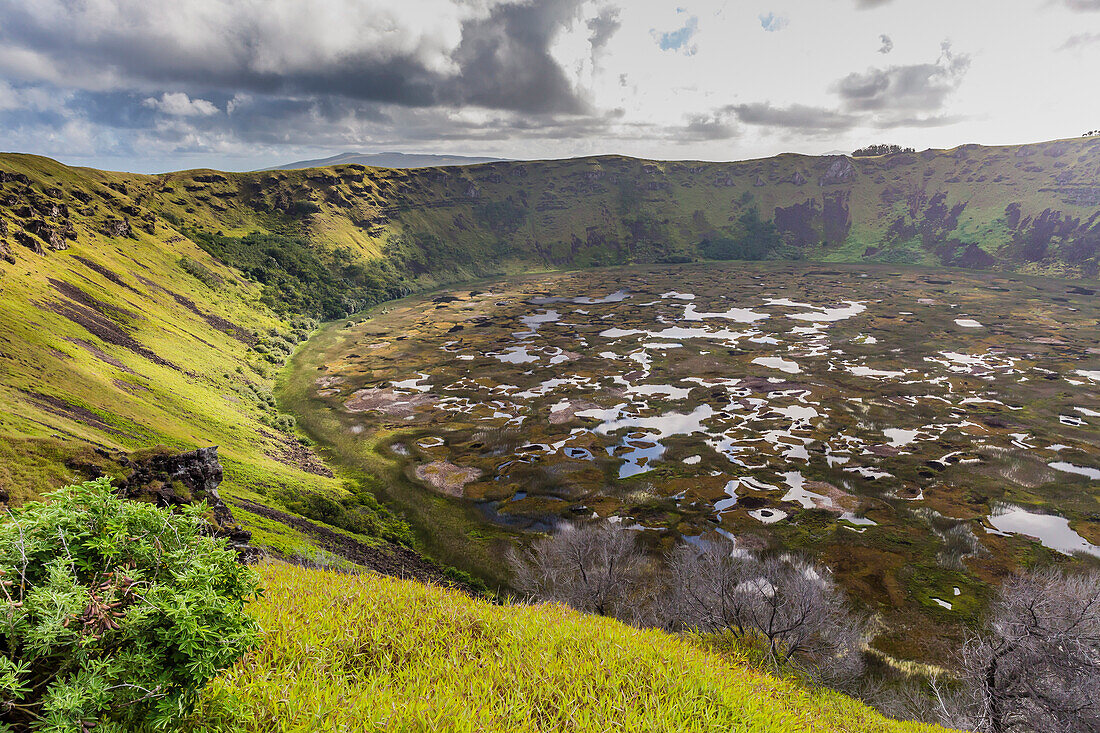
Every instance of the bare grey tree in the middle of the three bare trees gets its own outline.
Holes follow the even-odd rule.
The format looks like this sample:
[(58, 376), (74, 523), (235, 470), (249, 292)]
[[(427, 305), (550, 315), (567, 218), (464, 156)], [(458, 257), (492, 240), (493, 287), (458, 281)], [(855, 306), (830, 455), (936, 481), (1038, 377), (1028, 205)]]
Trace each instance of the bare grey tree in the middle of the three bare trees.
[(804, 559), (759, 557), (716, 541), (681, 546), (669, 558), (667, 627), (729, 631), (760, 639), (768, 657), (820, 681), (848, 683), (862, 671), (866, 622), (827, 570)]

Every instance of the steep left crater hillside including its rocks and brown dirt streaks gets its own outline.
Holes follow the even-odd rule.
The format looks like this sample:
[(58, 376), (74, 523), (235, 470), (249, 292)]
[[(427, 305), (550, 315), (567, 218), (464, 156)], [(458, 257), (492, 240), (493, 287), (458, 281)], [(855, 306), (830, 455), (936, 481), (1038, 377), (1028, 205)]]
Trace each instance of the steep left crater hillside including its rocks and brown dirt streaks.
[(150, 211), (152, 179), (33, 156), (0, 169), (0, 501), (114, 472), (138, 448), (216, 445), (223, 493), (258, 544), (312, 551), (309, 532), (246, 511), (309, 496), (353, 506), (353, 529), (406, 536), (275, 408), (274, 373), (315, 321), (277, 315), (257, 283)]

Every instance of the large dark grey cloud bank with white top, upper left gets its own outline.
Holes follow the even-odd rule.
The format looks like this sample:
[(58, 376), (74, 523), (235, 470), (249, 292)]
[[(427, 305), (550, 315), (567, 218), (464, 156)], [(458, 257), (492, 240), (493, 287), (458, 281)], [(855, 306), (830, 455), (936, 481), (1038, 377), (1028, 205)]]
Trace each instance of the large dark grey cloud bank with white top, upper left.
[[(466, 19), (457, 48), (442, 59), (446, 64), (439, 53), (432, 54), (436, 39), (413, 37), (409, 28), (389, 19), (373, 21), (362, 7), (344, 2), (350, 17), (380, 26), (364, 29), (374, 35), (364, 33), (361, 44), (346, 44), (339, 53), (326, 48), (323, 32), (310, 35), (279, 26), (265, 17), (263, 3), (182, 10), (168, 0), (95, 6), (0, 0), (0, 46), (9, 54), (34, 54), (43, 74), (76, 70), (70, 83), (86, 88), (331, 95), (407, 107), (479, 105), (520, 112), (584, 109), (549, 51), (580, 0), (516, 0), (494, 7), (487, 17)], [(375, 43), (376, 36), (394, 43)], [(9, 69), (16, 73), (34, 69)]]

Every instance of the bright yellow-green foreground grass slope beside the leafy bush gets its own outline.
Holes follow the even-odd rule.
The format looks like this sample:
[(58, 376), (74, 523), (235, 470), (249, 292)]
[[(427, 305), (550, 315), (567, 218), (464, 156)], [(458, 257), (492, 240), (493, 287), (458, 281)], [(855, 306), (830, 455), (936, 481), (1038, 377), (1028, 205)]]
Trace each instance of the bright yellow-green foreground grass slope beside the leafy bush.
[(933, 731), (660, 632), (282, 564), (207, 731)]

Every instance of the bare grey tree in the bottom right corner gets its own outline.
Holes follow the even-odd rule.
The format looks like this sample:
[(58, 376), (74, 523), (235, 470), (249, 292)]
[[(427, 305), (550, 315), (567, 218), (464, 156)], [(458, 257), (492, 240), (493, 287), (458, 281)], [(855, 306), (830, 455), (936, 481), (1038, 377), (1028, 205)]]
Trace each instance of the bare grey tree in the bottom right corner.
[(1100, 573), (1009, 579), (960, 654), (943, 722), (988, 733), (1100, 731)]

